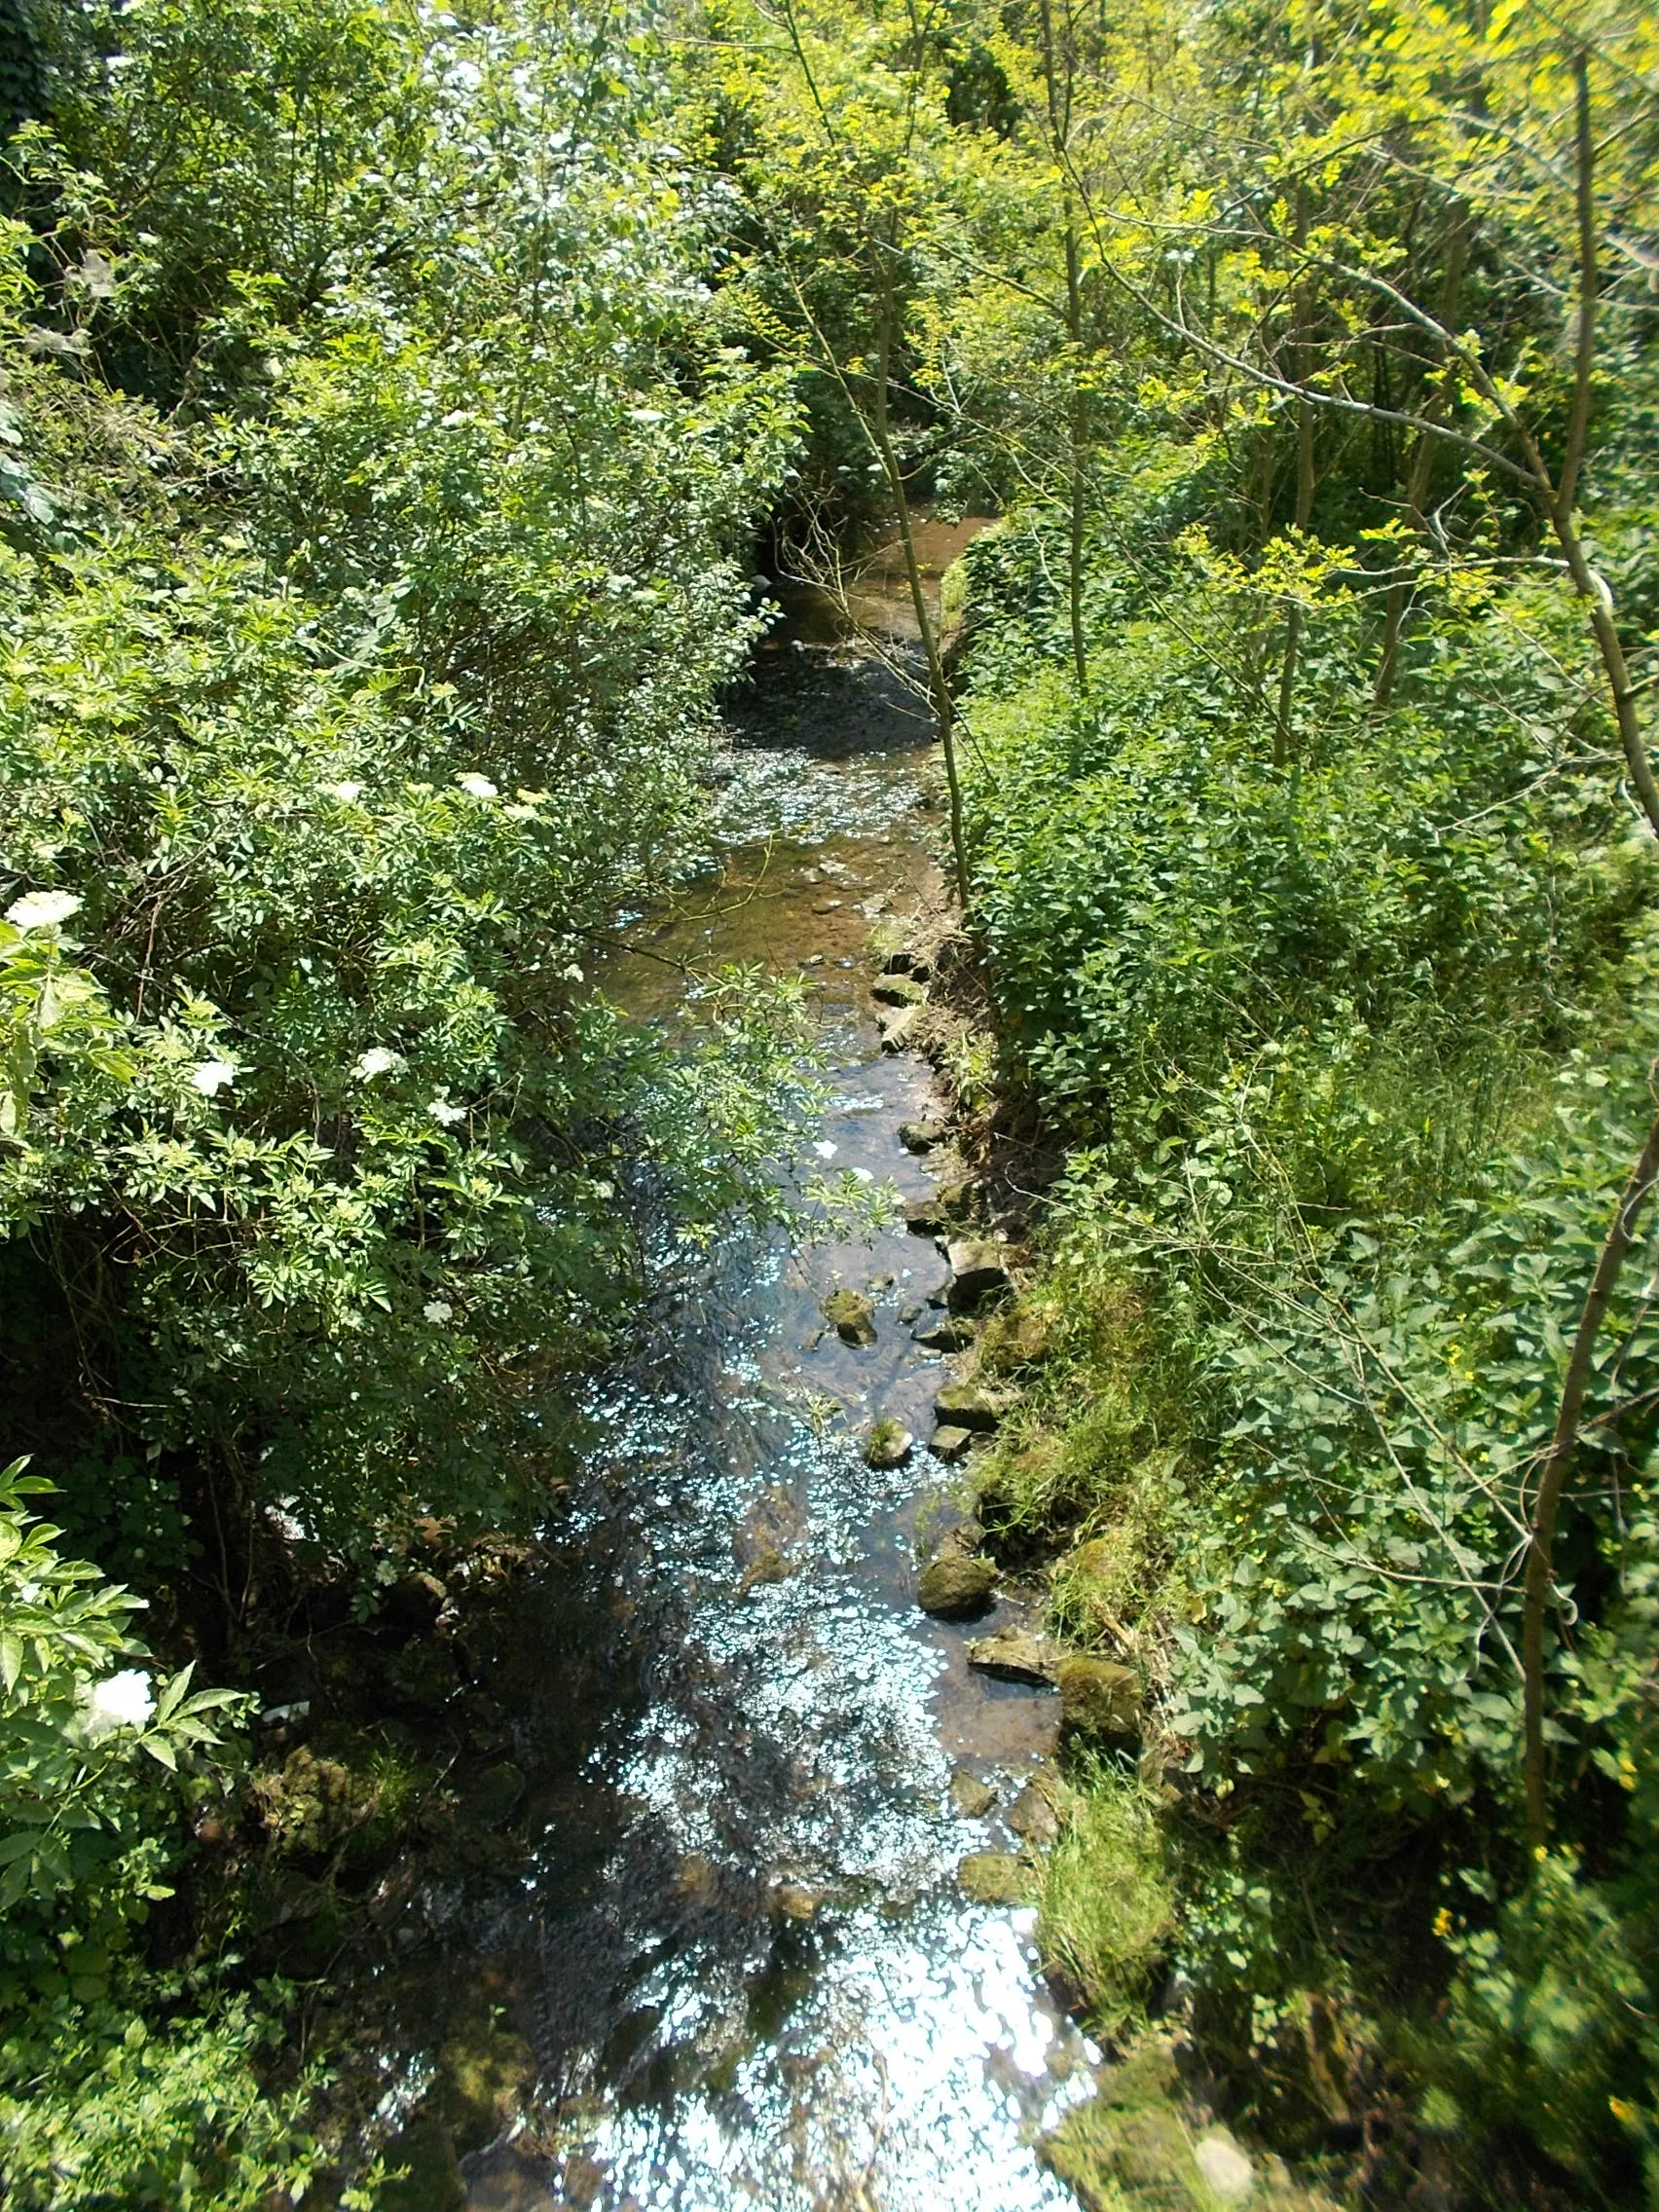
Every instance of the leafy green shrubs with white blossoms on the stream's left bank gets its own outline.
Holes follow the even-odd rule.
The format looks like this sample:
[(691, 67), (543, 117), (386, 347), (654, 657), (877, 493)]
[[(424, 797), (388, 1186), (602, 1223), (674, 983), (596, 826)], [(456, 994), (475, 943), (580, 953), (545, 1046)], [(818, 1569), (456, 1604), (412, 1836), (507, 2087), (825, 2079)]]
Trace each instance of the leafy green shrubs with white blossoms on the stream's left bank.
[(697, 849), (792, 400), (710, 327), (717, 208), (624, 29), (27, 29), (0, 2159), (18, 2205), (263, 2203), (307, 2157), (265, 2000), (135, 1940), (223, 1714), (104, 1577), (215, 1679), (296, 1577), (372, 1608), (414, 1517), (535, 1513), (653, 1250), (765, 1203), (787, 993), (668, 1051), (584, 978)]

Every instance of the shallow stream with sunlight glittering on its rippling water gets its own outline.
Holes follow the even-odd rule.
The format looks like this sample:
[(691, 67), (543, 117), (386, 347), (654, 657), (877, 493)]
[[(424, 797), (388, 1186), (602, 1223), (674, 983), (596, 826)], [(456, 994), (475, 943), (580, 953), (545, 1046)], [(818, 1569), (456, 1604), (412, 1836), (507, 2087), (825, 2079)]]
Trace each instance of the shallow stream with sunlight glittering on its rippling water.
[[(816, 984), (832, 1172), (929, 1188), (898, 1126), (931, 1071), (883, 1055), (872, 931), (938, 896), (927, 728), (887, 670), (761, 655), (723, 761), (721, 865), (633, 925), (608, 987), (684, 1020), (686, 967), (763, 956)], [(595, 1391), (599, 1438), (489, 1683), (529, 1776), (487, 1986), (526, 2035), (535, 2115), (467, 2161), (467, 2201), (604, 2212), (1037, 2212), (1071, 2203), (1035, 2139), (1097, 2053), (1035, 1975), (1033, 1916), (971, 1905), (953, 1767), (1006, 1807), (1053, 1754), (1053, 1697), (987, 1681), (916, 1608), (918, 1524), (956, 1511), (918, 1440), (949, 1378), (907, 1316), (942, 1254), (902, 1228), (721, 1254)], [(867, 1290), (876, 1345), (823, 1327)]]

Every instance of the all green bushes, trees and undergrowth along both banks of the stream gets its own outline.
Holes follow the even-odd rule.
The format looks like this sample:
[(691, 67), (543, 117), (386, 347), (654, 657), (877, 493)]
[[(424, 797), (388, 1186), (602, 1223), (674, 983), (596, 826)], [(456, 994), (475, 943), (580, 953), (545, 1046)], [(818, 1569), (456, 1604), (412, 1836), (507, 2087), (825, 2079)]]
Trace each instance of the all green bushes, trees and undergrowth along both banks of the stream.
[[(1652, 27), (4, 31), (9, 2199), (303, 2185), (281, 1991), (144, 1940), (206, 1681), (535, 1513), (653, 1250), (765, 1203), (787, 993), (670, 1051), (586, 971), (761, 518), (927, 495), (1002, 513), (922, 622), (953, 1073), (1062, 1161), (980, 1511), (1148, 1705), (1051, 1962), (1126, 2046), (1175, 1969), (1369, 2201), (1659, 2201)], [(1186, 2201), (1130, 2135), (1055, 2159)]]

